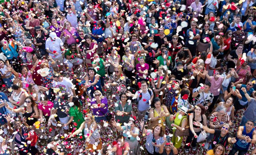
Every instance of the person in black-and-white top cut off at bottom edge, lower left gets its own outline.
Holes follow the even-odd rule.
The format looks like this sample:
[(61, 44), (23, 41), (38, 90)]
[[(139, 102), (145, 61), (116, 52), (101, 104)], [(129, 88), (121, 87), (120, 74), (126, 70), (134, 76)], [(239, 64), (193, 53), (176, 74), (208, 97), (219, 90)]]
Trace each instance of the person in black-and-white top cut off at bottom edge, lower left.
[(47, 140), (46, 154), (47, 155), (64, 155), (65, 147), (63, 147), (62, 145), (57, 145), (57, 143), (52, 138), (49, 138)]

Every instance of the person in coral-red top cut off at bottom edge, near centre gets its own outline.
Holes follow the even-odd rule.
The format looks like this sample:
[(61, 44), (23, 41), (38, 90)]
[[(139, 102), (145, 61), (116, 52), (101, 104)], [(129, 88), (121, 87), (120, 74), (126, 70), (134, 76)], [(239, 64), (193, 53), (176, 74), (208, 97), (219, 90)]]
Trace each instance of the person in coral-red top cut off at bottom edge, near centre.
[(109, 153), (115, 152), (116, 155), (128, 155), (129, 143), (125, 141), (124, 135), (119, 135), (117, 141), (119, 144), (115, 144), (114, 147), (109, 150)]

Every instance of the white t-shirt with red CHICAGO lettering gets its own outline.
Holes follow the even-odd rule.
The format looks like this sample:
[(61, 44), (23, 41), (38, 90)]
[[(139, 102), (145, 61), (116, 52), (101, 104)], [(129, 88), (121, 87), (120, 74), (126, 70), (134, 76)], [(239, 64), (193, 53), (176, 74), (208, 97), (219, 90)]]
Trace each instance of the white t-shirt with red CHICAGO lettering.
[(60, 88), (61, 93), (70, 93), (73, 95), (71, 90), (73, 83), (68, 78), (63, 78), (61, 82), (53, 81), (52, 87), (53, 88)]

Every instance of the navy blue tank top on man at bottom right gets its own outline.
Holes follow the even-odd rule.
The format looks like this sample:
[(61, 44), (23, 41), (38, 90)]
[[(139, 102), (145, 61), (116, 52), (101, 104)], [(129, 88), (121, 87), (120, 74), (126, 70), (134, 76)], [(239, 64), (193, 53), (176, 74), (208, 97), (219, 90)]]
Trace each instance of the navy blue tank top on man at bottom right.
[[(254, 131), (254, 128), (252, 129), (252, 131), (250, 133), (246, 133), (246, 127), (244, 126), (244, 131), (243, 131), (242, 135), (243, 136), (249, 136), (252, 139), (253, 131)], [(238, 150), (245, 150), (245, 151), (247, 151), (249, 149), (250, 144), (251, 143), (247, 143), (246, 140), (238, 139), (236, 137), (236, 143), (234, 144), (234, 146)]]

